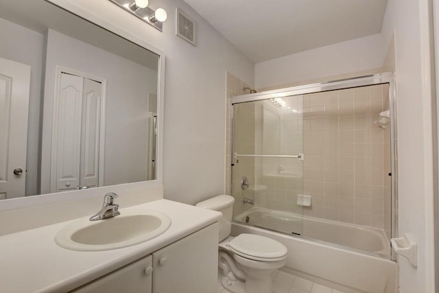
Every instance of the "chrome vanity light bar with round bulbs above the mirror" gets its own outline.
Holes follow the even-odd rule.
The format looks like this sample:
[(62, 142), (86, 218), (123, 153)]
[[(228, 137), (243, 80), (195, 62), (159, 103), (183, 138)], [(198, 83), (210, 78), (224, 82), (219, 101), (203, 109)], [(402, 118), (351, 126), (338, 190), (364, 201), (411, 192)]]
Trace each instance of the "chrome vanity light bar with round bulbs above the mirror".
[(155, 11), (148, 7), (148, 0), (110, 0), (112, 3), (117, 4), (139, 17), (145, 23), (152, 25), (157, 30), (162, 31), (163, 21), (167, 19), (167, 13), (163, 8), (157, 8)]

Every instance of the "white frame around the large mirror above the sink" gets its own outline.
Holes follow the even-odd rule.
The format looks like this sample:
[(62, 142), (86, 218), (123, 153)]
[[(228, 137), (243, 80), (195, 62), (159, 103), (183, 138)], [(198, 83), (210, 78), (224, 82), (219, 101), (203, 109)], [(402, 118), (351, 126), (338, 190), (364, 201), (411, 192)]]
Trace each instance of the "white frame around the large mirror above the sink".
[[(11, 198), (8, 200), (0, 201), (0, 211), (7, 211), (10, 209), (19, 209), (25, 207), (34, 207), (42, 204), (50, 204), (54, 202), (63, 202), (68, 200), (80, 200), (83, 198), (91, 198), (91, 197), (101, 197), (107, 192), (120, 192), (123, 194), (124, 191), (132, 191), (135, 189), (145, 189), (150, 187), (161, 187), (163, 186), (163, 115), (164, 115), (164, 92), (165, 92), (165, 54), (164, 51), (158, 49), (151, 43), (147, 42), (143, 38), (139, 38), (139, 36), (134, 36), (134, 34), (128, 32), (128, 26), (124, 24), (124, 19), (126, 17), (120, 17), (117, 19), (111, 19), (110, 16), (103, 16), (102, 11), (97, 10), (96, 8), (87, 7), (89, 5), (96, 5), (96, 3), (87, 3), (87, 1), (75, 1), (75, 3), (69, 0), (45, 0), (51, 4), (57, 5), (58, 7), (67, 10), (86, 21), (90, 21), (99, 27), (104, 28), (112, 32), (113, 34), (117, 34), (122, 38), (126, 38), (130, 40), (132, 43), (135, 43), (147, 50), (152, 51), (154, 54), (158, 55), (158, 92), (157, 92), (157, 110), (158, 110), (158, 140), (157, 140), (157, 163), (156, 163), (156, 180), (150, 181), (141, 181), (137, 183), (126, 183), (121, 185), (110, 185), (105, 187), (96, 187), (93, 189), (85, 189), (85, 190), (74, 190), (74, 191), (64, 191), (58, 192), (54, 194), (42, 194), (38, 196), (25, 196), (22, 198)], [(92, 1), (95, 2), (95, 1)], [(99, 1), (99, 5), (103, 2)], [(108, 1), (108, 5), (114, 6), (116, 5)], [(117, 8), (117, 11), (120, 8)], [(99, 13), (101, 12), (101, 13)], [(121, 10), (121, 14), (125, 13)], [(127, 14), (127, 17), (132, 17)], [(139, 25), (145, 25), (145, 23), (139, 23)], [(149, 29), (150, 27), (147, 26)]]

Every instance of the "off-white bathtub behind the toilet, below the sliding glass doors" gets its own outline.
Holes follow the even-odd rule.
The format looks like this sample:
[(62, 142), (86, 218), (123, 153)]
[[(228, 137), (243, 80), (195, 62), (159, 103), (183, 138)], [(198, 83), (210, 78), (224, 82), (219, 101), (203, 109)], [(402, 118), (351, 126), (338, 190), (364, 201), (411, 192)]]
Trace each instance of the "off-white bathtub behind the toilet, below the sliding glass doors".
[(396, 263), (381, 258), (390, 256), (390, 246), (377, 229), (254, 207), (234, 218), (232, 235), (241, 233), (264, 235), (287, 246), (283, 270), (340, 285), (343, 292), (396, 290)]

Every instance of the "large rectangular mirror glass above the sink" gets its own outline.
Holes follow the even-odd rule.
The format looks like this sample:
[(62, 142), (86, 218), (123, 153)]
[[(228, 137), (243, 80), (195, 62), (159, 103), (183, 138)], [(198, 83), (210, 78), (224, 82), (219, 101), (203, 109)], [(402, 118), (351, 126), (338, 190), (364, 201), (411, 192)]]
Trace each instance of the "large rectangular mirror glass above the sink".
[(0, 199), (157, 178), (158, 54), (44, 0), (0, 37)]

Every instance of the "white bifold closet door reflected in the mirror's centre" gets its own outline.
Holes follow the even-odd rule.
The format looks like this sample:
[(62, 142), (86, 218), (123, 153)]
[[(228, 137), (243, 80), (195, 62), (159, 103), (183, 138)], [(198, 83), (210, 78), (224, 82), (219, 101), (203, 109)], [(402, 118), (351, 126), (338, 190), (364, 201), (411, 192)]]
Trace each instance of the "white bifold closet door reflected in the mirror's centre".
[(56, 188), (51, 192), (97, 187), (102, 83), (61, 73), (57, 97), (51, 175)]

